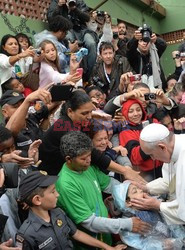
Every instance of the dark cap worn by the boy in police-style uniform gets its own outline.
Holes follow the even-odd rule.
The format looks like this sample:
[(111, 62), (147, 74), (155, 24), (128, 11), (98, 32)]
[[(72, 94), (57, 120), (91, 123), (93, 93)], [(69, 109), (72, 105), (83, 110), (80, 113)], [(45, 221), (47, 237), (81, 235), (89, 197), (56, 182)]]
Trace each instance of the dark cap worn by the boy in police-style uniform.
[(19, 185), (19, 199), (25, 200), (36, 188), (48, 187), (56, 182), (58, 176), (48, 175), (46, 171), (33, 171), (25, 175)]

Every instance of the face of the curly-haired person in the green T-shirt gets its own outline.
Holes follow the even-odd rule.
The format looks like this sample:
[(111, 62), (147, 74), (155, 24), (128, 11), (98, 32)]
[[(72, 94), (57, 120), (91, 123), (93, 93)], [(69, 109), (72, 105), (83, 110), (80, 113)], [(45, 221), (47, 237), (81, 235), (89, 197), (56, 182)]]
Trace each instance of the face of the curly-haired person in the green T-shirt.
[(91, 151), (67, 160), (67, 164), (73, 171), (86, 171), (91, 164)]

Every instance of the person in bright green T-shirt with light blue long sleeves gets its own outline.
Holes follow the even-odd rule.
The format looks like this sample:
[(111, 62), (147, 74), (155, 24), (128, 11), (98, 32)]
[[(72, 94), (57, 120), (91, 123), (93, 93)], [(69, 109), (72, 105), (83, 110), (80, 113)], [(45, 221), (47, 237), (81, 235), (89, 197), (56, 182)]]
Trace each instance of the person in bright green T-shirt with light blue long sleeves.
[(121, 230), (148, 231), (149, 225), (136, 217), (108, 218), (102, 191), (111, 193), (112, 186), (119, 182), (90, 165), (92, 143), (88, 136), (80, 131), (71, 131), (61, 138), (60, 149), (66, 163), (56, 182), (59, 193), (57, 204), (76, 224), (109, 243), (110, 233), (117, 234)]

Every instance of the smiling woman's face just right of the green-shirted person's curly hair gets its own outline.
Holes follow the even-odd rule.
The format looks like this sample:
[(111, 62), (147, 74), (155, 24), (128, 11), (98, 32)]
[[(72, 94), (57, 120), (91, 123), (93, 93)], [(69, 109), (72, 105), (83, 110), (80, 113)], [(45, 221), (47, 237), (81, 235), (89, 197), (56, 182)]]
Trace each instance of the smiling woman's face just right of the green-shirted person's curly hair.
[(108, 146), (109, 139), (107, 131), (105, 130), (99, 130), (92, 139), (93, 146), (100, 150), (101, 152), (104, 152)]

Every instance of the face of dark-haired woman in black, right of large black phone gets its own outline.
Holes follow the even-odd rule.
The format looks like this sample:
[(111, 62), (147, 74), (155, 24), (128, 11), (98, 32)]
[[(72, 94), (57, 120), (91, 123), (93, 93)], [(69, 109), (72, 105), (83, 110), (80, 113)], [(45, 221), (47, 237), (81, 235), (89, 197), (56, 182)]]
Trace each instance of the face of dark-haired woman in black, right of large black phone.
[(92, 118), (92, 111), (94, 110), (94, 105), (92, 102), (87, 102), (85, 104), (82, 104), (77, 110), (73, 111), (70, 108), (68, 109), (68, 116), (71, 118), (72, 121), (75, 122), (84, 122), (84, 125), (86, 122), (89, 123), (89, 121)]

